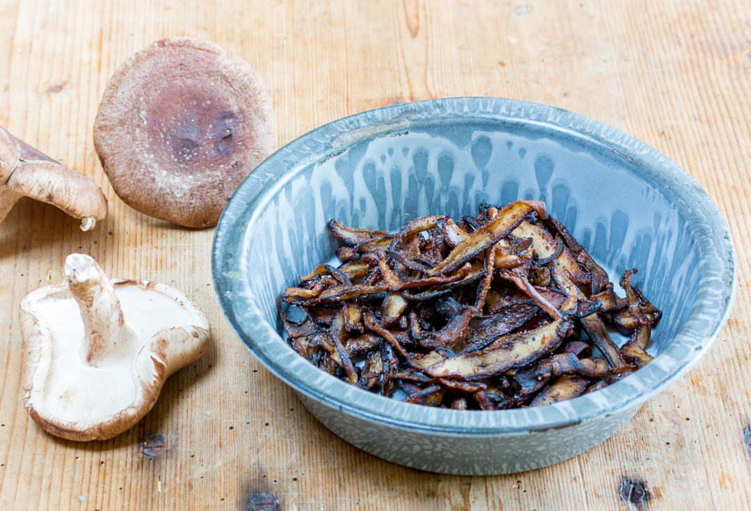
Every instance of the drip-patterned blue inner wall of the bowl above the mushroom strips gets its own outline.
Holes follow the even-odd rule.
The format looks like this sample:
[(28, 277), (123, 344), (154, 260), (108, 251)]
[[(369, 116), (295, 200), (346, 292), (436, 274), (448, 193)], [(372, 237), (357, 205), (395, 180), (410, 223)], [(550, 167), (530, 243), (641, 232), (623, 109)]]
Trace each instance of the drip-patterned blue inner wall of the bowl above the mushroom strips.
[[(649, 351), (659, 355), (686, 324), (698, 293), (698, 257), (670, 191), (607, 148), (538, 125), (475, 119), (430, 122), (361, 140), (285, 176), (247, 233), (243, 278), (266, 320), (282, 333), (279, 295), (341, 243), (332, 218), (399, 230), (413, 218), (477, 215), (478, 205), (542, 200), (611, 281), (632, 280), (663, 311)], [(623, 293), (621, 293), (623, 296)], [(617, 336), (617, 334), (615, 334)]]

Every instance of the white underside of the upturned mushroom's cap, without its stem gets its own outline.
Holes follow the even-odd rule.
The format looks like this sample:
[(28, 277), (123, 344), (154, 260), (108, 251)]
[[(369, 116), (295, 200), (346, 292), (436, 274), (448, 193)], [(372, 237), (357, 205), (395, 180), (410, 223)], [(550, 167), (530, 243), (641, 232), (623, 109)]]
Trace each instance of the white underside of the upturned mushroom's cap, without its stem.
[(155, 290), (159, 284), (114, 280), (112, 284), (125, 324), (135, 332), (136, 341), (121, 351), (121, 358), (100, 367), (86, 364), (81, 350), (83, 320), (69, 290), (50, 293), (30, 304), (38, 318), (44, 317), (46, 324), (41, 326), (47, 327), (50, 335), (47, 349), (41, 350), (42, 357), (48, 359), (35, 371), (26, 404), (34, 408), (32, 415), (62, 431), (101, 427), (123, 413), (140, 419), (153, 406), (164, 380), (206, 349), (172, 347), (172, 353), (165, 349), (164, 339), (173, 337), (170, 334), (176, 329), (192, 331), (192, 335), (186, 332), (190, 341), (206, 344), (208, 323), (197, 309), (186, 308), (179, 297)]

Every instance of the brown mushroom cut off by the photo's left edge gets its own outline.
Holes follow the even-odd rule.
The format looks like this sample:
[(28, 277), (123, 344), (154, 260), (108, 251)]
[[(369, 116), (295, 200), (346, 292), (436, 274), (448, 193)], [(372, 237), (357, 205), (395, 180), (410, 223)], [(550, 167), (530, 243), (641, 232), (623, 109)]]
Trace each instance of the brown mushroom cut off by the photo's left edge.
[(107, 199), (95, 182), (0, 128), (0, 221), (21, 197), (80, 218), (81, 230), (92, 230), (107, 216)]

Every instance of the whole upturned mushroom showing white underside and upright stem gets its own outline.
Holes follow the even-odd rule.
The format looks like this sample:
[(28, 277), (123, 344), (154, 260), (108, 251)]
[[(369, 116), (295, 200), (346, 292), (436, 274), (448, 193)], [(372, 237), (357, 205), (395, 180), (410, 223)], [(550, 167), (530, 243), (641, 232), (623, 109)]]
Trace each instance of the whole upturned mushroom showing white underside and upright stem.
[(66, 284), (21, 302), (23, 401), (44, 430), (106, 440), (154, 406), (164, 380), (209, 345), (203, 312), (178, 290), (109, 281), (91, 257), (65, 260)]

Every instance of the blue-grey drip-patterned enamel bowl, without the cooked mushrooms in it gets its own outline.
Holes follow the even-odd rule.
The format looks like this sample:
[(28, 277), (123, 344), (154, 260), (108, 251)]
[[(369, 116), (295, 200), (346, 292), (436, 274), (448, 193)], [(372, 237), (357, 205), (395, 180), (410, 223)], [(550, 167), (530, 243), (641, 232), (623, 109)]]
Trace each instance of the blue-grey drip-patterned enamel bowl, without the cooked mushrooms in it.
[[(327, 223), (397, 230), (480, 203), (544, 200), (617, 280), (663, 311), (646, 367), (579, 398), (523, 410), (441, 410), (356, 389), (282, 340), (279, 294), (332, 260)], [(633, 137), (576, 113), (450, 98), (359, 113), (279, 149), (240, 185), (213, 246), (213, 278), (237, 336), (334, 433), (373, 455), (442, 473), (544, 467), (614, 434), (689, 371), (735, 294), (728, 227), (704, 190)]]

